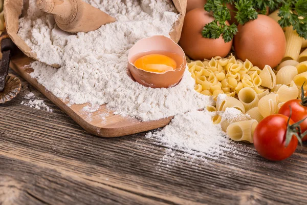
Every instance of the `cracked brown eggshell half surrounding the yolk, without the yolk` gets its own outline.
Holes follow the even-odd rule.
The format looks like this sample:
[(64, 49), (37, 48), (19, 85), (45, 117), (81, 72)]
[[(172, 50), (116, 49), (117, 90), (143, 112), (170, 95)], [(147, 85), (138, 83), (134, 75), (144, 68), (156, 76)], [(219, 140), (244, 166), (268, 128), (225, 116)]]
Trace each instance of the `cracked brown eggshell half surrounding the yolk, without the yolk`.
[[(182, 57), (182, 62), (177, 69), (166, 71), (164, 73), (148, 72), (138, 69), (134, 62), (142, 53), (150, 54), (157, 52), (174, 53)], [(175, 59), (176, 60), (176, 59)], [(178, 63), (178, 62), (177, 62)], [(151, 88), (169, 88), (176, 86), (183, 77), (186, 69), (186, 58), (182, 48), (173, 42), (170, 38), (162, 35), (156, 35), (139, 40), (129, 51), (128, 68), (133, 78), (141, 85)]]

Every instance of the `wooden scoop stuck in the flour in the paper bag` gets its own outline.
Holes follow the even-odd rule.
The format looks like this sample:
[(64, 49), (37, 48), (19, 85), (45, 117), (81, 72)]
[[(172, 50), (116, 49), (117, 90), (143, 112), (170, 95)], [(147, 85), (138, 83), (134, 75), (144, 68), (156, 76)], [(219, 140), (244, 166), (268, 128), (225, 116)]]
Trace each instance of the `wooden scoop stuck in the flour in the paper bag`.
[(54, 14), (58, 27), (70, 33), (94, 31), (116, 20), (82, 0), (37, 0), (36, 5)]

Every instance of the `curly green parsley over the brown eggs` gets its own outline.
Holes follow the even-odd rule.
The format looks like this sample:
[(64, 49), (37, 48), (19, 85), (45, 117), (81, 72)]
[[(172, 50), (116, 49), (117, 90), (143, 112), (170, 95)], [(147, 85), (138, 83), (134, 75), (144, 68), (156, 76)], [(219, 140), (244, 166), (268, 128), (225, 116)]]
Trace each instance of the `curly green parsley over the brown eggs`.
[(258, 13), (265, 14), (267, 7), (270, 10), (280, 7), (279, 25), (281, 27), (293, 26), (299, 36), (307, 39), (307, 0), (208, 0), (204, 8), (208, 12), (213, 12), (214, 20), (205, 25), (202, 31), (204, 37), (219, 38), (222, 35), (227, 43), (237, 33), (235, 24), (226, 24), (226, 21), (231, 19), (227, 4), (234, 4), (235, 18), (242, 25), (256, 19)]

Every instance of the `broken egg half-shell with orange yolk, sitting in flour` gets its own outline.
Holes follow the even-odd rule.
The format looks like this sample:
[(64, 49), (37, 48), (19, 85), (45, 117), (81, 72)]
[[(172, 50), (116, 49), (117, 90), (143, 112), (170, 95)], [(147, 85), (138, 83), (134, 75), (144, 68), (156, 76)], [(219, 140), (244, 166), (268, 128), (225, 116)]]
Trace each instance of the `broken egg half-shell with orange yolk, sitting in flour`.
[(130, 49), (128, 68), (143, 86), (169, 88), (182, 79), (186, 58), (182, 48), (172, 39), (157, 35), (139, 40)]

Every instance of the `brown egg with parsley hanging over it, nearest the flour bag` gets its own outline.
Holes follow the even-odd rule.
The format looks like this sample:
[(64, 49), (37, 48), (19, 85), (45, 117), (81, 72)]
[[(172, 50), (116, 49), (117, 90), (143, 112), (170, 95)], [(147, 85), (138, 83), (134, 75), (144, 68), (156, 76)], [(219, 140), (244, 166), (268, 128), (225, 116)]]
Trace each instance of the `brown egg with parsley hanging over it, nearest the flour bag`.
[(212, 20), (213, 16), (201, 8), (186, 14), (179, 44), (190, 58), (203, 60), (214, 56), (225, 57), (229, 53), (232, 41), (225, 43), (222, 36), (217, 39), (202, 36), (204, 26)]

